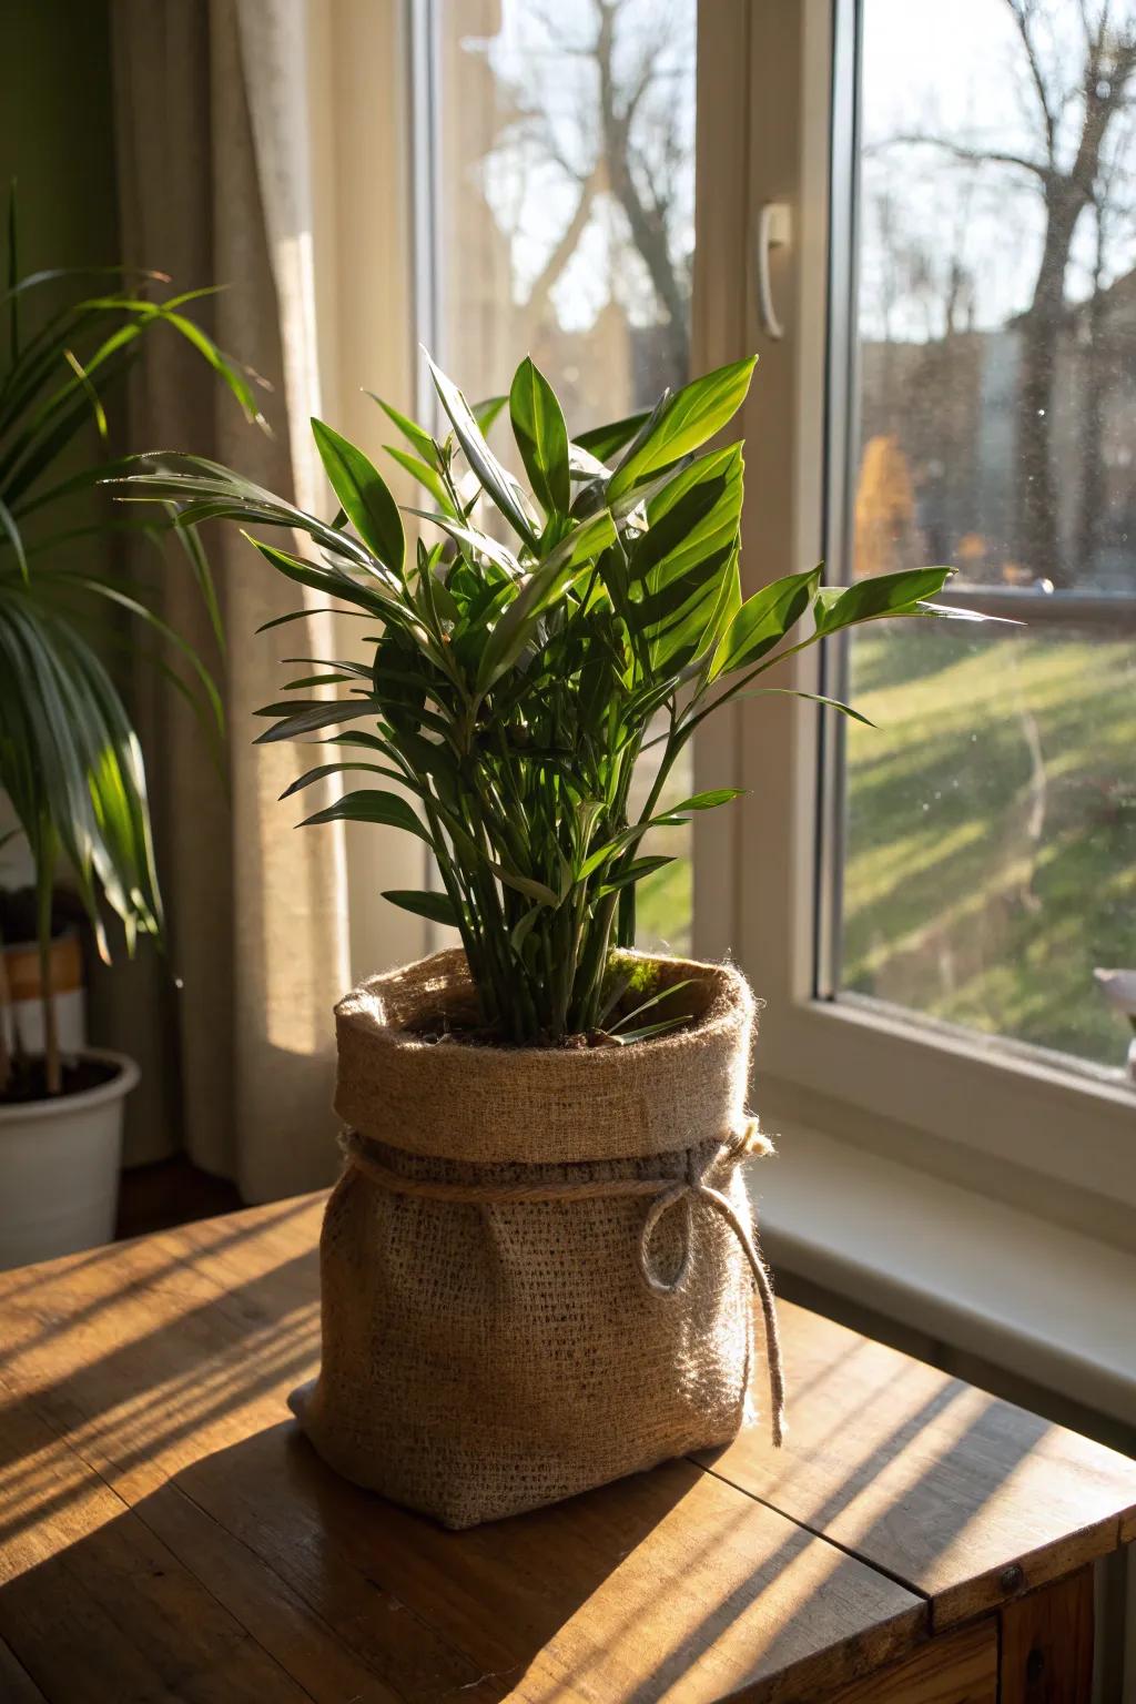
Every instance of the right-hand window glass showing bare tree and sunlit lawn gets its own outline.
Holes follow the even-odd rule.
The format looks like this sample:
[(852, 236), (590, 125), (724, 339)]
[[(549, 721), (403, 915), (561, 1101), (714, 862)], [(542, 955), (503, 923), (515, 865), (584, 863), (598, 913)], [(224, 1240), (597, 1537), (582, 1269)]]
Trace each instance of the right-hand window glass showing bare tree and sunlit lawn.
[(852, 639), (881, 728), (848, 733), (841, 985), (1116, 1065), (1092, 973), (1136, 964), (1136, 19), (862, 0), (862, 27), (852, 573), (952, 562), (1027, 625)]

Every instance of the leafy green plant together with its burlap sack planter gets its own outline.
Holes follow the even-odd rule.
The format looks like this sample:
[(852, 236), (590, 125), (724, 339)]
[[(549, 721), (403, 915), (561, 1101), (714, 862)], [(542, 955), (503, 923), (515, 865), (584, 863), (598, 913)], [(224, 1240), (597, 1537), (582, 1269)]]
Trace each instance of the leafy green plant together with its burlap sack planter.
[(322, 1372), (295, 1408), (334, 1467), (448, 1525), (732, 1436), (754, 1285), (780, 1442), (773, 1297), (737, 1167), (765, 1148), (746, 1113), (753, 999), (732, 966), (634, 951), (635, 886), (668, 862), (640, 847), (736, 796), (659, 806), (715, 709), (783, 690), (760, 683), (783, 656), (950, 612), (927, 602), (942, 567), (848, 588), (816, 567), (743, 598), (743, 452), (705, 446), (751, 370), (572, 438), (523, 361), (508, 407), (525, 489), (431, 366), (443, 438), (383, 404), (433, 499), (412, 511), (431, 542), (407, 542), (378, 470), (320, 421), (330, 521), (192, 457), (126, 487), (184, 521), (305, 533), (307, 557), (252, 542), (366, 622), (353, 656), (301, 659), (303, 697), (267, 705), (261, 740), (330, 746), (288, 792), (351, 777), (308, 823), (393, 823), (431, 849), (438, 888), (387, 898), (462, 947), (337, 1009), (347, 1164), (322, 1235)]

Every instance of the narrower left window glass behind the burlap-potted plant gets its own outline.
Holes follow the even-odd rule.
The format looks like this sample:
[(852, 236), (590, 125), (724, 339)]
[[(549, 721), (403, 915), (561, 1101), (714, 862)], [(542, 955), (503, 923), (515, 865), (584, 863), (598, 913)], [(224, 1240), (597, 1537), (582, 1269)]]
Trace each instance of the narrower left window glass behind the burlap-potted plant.
[[(531, 354), (579, 433), (686, 380), (695, 10), (441, 0), (439, 343), (468, 395)], [(663, 803), (693, 791), (685, 767)], [(680, 861), (640, 884), (639, 937), (683, 951), (690, 838), (657, 838)]]

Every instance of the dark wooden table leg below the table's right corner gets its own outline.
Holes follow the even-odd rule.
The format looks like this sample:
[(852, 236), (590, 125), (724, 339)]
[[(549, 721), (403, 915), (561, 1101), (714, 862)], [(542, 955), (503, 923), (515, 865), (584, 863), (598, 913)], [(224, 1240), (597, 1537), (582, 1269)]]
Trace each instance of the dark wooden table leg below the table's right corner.
[(1001, 1704), (1090, 1704), (1093, 1569), (1081, 1568), (1001, 1610)]

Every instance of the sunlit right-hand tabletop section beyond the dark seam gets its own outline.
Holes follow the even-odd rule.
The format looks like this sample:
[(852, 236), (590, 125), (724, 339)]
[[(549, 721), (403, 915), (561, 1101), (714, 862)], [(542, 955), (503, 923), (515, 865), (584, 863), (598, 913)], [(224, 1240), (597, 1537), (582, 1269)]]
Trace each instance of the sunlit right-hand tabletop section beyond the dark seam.
[(789, 1447), (715, 1474), (927, 1597), (942, 1629), (1117, 1549), (1136, 1462), (800, 1307), (782, 1307)]

